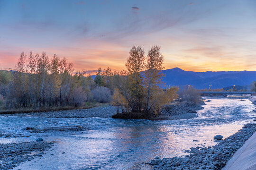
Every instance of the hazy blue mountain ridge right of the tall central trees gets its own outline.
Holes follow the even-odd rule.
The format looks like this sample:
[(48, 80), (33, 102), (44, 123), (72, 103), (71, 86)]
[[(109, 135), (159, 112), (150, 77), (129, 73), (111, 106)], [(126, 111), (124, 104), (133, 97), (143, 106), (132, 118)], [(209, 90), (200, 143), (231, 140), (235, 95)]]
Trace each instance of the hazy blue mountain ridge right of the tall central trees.
[(232, 85), (249, 85), (256, 81), (256, 71), (184, 71), (180, 68), (163, 70), (166, 85), (193, 85), (195, 88), (213, 89)]

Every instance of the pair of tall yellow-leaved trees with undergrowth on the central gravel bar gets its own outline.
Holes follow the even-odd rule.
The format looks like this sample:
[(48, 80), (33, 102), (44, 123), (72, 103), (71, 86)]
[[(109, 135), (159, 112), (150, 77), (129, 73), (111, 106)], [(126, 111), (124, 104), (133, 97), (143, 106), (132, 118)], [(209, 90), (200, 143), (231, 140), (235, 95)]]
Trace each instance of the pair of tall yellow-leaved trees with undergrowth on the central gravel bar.
[(114, 104), (122, 105), (127, 112), (137, 112), (143, 118), (158, 114), (163, 106), (177, 97), (178, 91), (177, 87), (163, 89), (164, 74), (161, 71), (164, 58), (160, 54), (160, 47), (153, 46), (147, 58), (140, 46), (133, 46), (129, 54), (125, 64), (127, 71), (121, 71), (120, 76), (115, 77), (119, 90), (114, 92)]

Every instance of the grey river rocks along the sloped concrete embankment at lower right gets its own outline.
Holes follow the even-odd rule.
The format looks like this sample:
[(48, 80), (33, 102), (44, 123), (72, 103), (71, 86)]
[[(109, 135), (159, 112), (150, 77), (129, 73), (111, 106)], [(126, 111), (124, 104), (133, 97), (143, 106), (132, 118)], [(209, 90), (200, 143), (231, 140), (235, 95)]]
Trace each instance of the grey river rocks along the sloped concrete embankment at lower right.
[(249, 123), (237, 133), (215, 146), (191, 148), (183, 157), (155, 159), (147, 162), (155, 170), (221, 170), (233, 154), (255, 132), (256, 123)]

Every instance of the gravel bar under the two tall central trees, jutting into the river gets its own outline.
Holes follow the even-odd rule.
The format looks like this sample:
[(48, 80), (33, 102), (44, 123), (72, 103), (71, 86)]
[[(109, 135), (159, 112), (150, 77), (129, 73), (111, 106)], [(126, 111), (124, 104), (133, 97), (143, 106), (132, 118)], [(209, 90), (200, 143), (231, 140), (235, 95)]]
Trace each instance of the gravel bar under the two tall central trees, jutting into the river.
[(190, 102), (174, 102), (164, 107), (158, 115), (145, 115), (140, 113), (118, 113), (112, 118), (115, 119), (148, 119), (148, 120), (175, 120), (175, 119), (192, 119), (197, 117), (197, 110), (203, 109), (201, 105)]

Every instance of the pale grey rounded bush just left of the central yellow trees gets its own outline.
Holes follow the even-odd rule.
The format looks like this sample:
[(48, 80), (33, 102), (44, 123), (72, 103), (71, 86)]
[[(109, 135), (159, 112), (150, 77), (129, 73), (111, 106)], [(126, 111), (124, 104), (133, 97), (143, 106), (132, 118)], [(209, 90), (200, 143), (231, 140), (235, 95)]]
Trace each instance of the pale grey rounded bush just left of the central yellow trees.
[(110, 89), (107, 87), (98, 86), (91, 91), (96, 102), (107, 103), (111, 101)]

